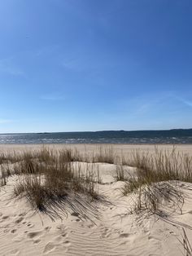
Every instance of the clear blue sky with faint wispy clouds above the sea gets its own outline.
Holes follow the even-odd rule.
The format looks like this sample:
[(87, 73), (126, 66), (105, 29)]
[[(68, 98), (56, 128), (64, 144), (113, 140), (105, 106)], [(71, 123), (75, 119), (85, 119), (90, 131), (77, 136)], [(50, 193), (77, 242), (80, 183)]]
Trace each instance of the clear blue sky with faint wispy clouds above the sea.
[(0, 0), (0, 133), (191, 117), (191, 0)]

